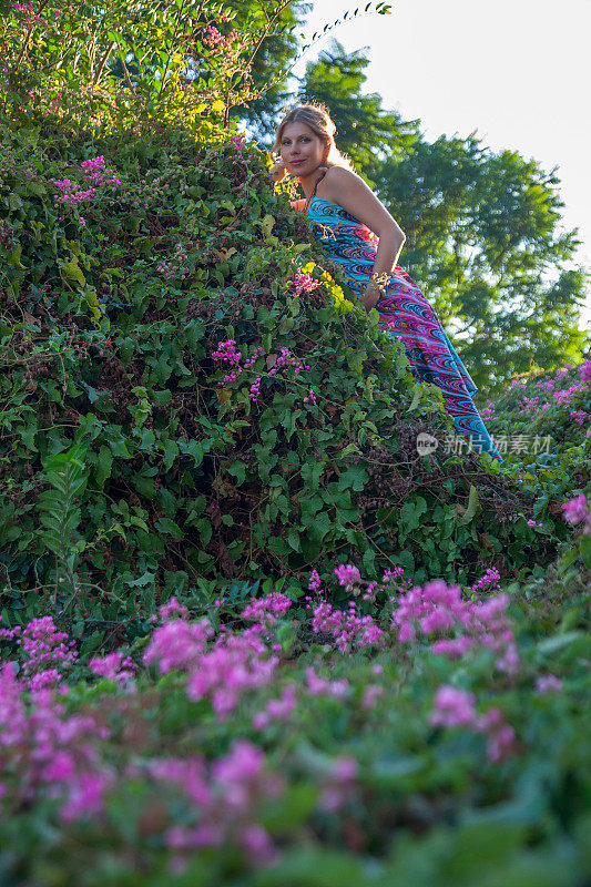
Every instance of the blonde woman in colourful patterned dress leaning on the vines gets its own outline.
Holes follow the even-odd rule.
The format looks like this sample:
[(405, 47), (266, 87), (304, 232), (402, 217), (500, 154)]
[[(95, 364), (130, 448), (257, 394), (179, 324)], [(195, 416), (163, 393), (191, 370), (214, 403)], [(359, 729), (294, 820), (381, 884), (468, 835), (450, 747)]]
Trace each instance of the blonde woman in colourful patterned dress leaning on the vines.
[(456, 429), (478, 452), (502, 462), (471, 395), (477, 390), (425, 296), (397, 265), (404, 232), (335, 145), (335, 124), (320, 106), (293, 108), (277, 129), (272, 153), (276, 182), (296, 176), (306, 197), (292, 205), (307, 214), (315, 236), (361, 292), (367, 312), (377, 308), (383, 329), (405, 346), (412, 375), (434, 383)]

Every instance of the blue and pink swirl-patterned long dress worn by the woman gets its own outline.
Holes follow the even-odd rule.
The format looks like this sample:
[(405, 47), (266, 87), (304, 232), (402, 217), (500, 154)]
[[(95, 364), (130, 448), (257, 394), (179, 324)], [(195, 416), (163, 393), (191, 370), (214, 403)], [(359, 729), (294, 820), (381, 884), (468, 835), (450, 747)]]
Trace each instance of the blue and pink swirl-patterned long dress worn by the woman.
[[(343, 266), (351, 285), (367, 283), (376, 259), (378, 237), (336, 203), (312, 196), (308, 220), (325, 252)], [(376, 306), (380, 326), (405, 346), (417, 381), (441, 389), (444, 404), (456, 430), (466, 435), (472, 449), (503, 459), (491, 440), (471, 395), (477, 389), (456, 353), (436, 313), (417, 284), (399, 265), (390, 274)], [(456, 451), (456, 450), (454, 450)]]

